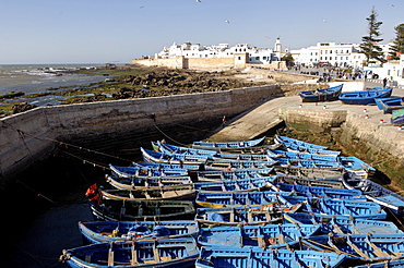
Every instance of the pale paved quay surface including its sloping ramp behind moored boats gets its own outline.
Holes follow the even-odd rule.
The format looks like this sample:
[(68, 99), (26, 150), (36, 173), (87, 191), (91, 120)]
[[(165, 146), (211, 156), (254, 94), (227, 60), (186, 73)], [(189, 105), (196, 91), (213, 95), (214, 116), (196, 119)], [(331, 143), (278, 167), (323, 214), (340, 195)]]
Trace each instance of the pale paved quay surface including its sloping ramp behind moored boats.
[[(347, 82), (348, 83), (348, 82)], [(377, 85), (366, 84), (366, 87)], [(403, 97), (404, 89), (394, 88), (392, 97)], [(300, 108), (301, 106), (301, 108)], [(383, 127), (392, 127), (396, 131), (396, 126), (390, 123), (391, 114), (383, 114), (377, 106), (357, 106), (344, 105), (342, 101), (326, 102), (301, 102), (299, 96), (281, 97), (268, 100), (253, 110), (245, 112), (239, 117), (228, 121), (225, 127), (217, 130), (209, 141), (248, 141), (266, 132), (282, 122), (280, 119), (280, 108), (299, 108), (308, 110), (332, 110), (332, 111), (350, 111), (357, 117), (367, 120), (369, 123), (380, 124)], [(382, 121), (381, 121), (382, 120)], [(380, 123), (382, 122), (382, 123)], [(402, 130), (404, 132), (404, 130)]]

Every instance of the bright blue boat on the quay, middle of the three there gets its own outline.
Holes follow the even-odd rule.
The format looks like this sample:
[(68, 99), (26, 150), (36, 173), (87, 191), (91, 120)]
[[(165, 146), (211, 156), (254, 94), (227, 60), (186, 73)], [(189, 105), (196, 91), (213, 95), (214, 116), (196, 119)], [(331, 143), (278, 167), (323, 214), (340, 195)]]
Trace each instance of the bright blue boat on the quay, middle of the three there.
[(376, 98), (388, 98), (391, 96), (393, 88), (373, 87), (364, 92), (342, 93), (340, 100), (346, 105), (376, 105)]

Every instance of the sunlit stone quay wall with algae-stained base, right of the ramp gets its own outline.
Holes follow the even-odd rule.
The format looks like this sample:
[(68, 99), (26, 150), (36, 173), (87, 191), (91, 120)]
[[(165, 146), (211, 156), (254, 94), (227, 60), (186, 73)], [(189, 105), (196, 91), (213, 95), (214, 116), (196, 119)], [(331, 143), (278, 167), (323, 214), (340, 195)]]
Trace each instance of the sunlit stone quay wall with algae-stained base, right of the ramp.
[(280, 117), (294, 130), (330, 133), (346, 154), (365, 160), (395, 185), (404, 186), (404, 131), (396, 126), (367, 120), (350, 110), (285, 107), (280, 108)]

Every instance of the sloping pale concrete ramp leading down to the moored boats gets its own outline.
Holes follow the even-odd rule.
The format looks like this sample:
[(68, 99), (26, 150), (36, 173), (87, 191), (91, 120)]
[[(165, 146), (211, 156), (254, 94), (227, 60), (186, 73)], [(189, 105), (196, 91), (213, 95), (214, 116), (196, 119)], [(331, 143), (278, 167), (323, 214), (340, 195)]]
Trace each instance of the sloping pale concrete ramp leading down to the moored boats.
[(252, 139), (283, 121), (278, 117), (281, 107), (296, 106), (300, 102), (299, 96), (271, 99), (228, 121), (225, 127), (218, 130), (209, 139), (215, 142)]

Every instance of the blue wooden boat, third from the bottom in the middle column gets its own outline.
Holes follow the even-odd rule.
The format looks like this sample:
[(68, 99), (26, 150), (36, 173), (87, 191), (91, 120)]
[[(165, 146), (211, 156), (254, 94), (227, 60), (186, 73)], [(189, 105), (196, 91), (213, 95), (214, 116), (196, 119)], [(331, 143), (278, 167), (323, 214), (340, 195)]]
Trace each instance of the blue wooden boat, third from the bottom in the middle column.
[(222, 208), (198, 208), (195, 220), (205, 226), (240, 227), (262, 226), (282, 222), (284, 211), (296, 211), (294, 209), (280, 207), (222, 207)]

